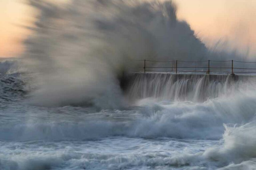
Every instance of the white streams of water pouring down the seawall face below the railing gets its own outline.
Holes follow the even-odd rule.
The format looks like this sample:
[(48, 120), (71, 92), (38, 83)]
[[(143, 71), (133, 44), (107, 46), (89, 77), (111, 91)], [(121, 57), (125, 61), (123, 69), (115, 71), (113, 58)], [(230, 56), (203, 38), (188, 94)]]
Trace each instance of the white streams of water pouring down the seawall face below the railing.
[(127, 94), (130, 99), (203, 102), (229, 95), (254, 79), (245, 75), (135, 73), (130, 77)]

